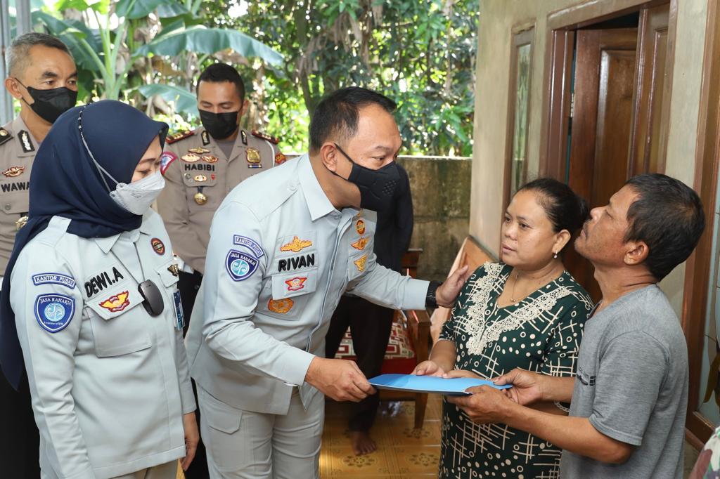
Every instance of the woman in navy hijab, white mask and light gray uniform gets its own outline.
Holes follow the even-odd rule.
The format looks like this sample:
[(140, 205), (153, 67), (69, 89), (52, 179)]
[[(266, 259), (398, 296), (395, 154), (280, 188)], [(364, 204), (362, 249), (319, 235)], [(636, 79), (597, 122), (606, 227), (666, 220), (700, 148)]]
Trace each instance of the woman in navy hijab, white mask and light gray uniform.
[(150, 210), (166, 132), (99, 101), (63, 114), (37, 152), (0, 363), (16, 388), (27, 372), (43, 478), (170, 479), (194, 456), (177, 266)]

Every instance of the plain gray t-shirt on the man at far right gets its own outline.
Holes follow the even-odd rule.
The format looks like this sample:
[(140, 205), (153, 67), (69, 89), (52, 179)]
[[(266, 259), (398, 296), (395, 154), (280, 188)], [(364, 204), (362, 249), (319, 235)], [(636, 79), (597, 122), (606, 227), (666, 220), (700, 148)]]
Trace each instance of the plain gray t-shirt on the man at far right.
[(624, 464), (564, 451), (562, 478), (682, 478), (688, 350), (657, 286), (633, 291), (585, 323), (570, 416), (636, 446)]

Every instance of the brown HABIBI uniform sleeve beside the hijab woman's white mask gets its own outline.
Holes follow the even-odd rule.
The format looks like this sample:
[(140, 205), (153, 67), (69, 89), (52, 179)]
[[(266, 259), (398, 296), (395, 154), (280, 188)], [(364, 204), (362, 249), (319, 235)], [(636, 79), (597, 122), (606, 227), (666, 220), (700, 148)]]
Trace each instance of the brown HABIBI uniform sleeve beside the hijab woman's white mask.
[(182, 260), (190, 267), (202, 273), (204, 270), (205, 251), (202, 241), (192, 225), (189, 224), (190, 212), (187, 209), (185, 185), (182, 182), (181, 161), (179, 155), (166, 149), (163, 155), (176, 157), (167, 165), (163, 177), (166, 185), (158, 196), (158, 213), (163, 217), (165, 228), (174, 245), (183, 245)]

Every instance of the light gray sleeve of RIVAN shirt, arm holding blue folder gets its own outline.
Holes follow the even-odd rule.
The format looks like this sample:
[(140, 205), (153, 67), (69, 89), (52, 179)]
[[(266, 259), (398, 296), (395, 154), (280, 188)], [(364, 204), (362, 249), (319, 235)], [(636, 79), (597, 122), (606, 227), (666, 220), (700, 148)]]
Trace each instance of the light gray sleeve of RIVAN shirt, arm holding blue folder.
[(258, 247), (263, 245), (255, 215), (246, 206), (230, 202), (217, 211), (212, 222), (203, 278), (203, 337), (208, 347), (226, 360), (238, 361), (258, 375), (300, 385), (315, 356), (253, 324), (266, 256), (263, 252), (257, 257), (250, 248), (236, 245), (235, 235)]

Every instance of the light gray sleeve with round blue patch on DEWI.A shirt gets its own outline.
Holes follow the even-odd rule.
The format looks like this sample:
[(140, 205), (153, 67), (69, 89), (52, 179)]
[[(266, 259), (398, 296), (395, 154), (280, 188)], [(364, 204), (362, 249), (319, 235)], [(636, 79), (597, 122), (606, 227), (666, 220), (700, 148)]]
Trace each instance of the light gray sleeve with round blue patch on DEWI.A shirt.
[(32, 276), (43, 273), (73, 278), (52, 247), (35, 243), (20, 255), (10, 291), (32, 409), (55, 473), (62, 478), (94, 479), (71, 394), (83, 298), (77, 285), (35, 286)]

